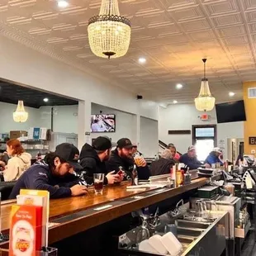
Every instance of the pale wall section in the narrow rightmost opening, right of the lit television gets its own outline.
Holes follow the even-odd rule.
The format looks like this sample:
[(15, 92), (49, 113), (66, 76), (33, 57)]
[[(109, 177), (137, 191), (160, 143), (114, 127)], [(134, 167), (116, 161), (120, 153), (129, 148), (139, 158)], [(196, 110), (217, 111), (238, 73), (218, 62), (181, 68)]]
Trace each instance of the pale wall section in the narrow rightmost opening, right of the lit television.
[(154, 157), (158, 154), (158, 132), (158, 121), (140, 117), (140, 145), (138, 149), (145, 157)]

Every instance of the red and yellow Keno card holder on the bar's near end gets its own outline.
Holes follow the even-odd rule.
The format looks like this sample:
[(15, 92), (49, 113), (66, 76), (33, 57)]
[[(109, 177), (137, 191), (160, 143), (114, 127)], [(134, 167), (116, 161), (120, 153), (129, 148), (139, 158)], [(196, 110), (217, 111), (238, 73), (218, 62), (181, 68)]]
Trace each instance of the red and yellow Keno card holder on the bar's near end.
[[(17, 205), (12, 206), (10, 256), (56, 256), (57, 249), (48, 247), (49, 192), (22, 190)], [(7, 249), (0, 248), (0, 255)]]

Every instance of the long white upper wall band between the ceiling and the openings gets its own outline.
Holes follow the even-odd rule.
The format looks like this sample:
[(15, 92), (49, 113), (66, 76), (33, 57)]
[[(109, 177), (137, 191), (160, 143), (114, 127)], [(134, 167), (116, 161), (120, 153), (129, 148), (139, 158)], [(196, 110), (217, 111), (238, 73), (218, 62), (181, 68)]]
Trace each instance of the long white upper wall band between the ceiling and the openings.
[(4, 36), (0, 36), (0, 56), (0, 78), (158, 119), (158, 105), (155, 102), (138, 101), (135, 94), (111, 86), (110, 81), (92, 78), (89, 73), (74, 69)]

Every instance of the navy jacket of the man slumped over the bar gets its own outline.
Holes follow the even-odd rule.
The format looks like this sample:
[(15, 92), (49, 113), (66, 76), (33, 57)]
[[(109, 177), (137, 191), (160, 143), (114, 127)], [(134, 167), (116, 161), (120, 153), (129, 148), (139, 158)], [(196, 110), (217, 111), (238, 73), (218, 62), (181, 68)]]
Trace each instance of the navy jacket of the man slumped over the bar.
[(21, 189), (47, 190), (50, 198), (71, 197), (71, 190), (81, 180), (73, 174), (67, 174), (64, 178), (55, 177), (45, 162), (38, 162), (28, 168), (12, 189), (10, 199), (16, 199)]

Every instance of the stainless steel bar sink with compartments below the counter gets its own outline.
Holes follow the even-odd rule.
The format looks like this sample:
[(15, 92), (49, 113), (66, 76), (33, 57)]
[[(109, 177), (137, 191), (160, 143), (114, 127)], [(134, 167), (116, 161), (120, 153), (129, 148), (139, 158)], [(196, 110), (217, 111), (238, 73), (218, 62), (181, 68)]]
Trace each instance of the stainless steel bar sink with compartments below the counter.
[[(216, 217), (213, 222), (176, 220), (178, 240), (183, 245), (183, 251), (179, 256), (197, 254), (217, 256), (223, 252), (225, 249), (225, 223), (228, 220), (228, 215), (225, 211), (211, 211), (211, 214)], [(162, 218), (162, 220), (168, 220), (168, 218)], [(168, 223), (170, 222), (162, 221), (154, 234), (164, 235), (164, 227)], [(136, 233), (135, 229), (121, 235), (119, 249), (127, 255), (148, 255), (146, 252), (138, 251), (138, 243), (140, 241), (133, 238)], [(202, 248), (207, 251), (207, 254), (201, 254)]]

